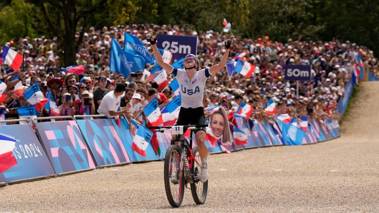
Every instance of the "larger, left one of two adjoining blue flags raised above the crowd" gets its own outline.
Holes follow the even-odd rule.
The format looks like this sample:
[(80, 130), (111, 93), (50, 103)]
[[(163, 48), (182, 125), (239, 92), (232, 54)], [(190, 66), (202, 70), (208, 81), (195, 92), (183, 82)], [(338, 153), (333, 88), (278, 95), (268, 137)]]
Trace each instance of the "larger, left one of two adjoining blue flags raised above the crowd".
[(144, 69), (144, 66), (143, 57), (123, 51), (117, 40), (112, 38), (110, 71), (123, 74), (126, 78), (131, 72)]

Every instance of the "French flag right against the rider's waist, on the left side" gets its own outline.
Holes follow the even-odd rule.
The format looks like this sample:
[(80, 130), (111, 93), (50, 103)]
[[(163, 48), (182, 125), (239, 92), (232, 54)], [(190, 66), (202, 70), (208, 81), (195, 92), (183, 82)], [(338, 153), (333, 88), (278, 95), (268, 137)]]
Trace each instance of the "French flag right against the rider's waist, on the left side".
[(173, 126), (179, 116), (181, 97), (177, 95), (161, 109), (164, 126)]

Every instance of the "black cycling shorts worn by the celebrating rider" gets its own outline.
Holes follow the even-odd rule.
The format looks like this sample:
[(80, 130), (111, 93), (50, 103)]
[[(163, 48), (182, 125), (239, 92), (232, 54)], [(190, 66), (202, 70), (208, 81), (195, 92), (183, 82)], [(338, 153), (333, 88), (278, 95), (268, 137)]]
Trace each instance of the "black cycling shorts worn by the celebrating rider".
[[(185, 125), (199, 125), (199, 124), (205, 124), (205, 114), (204, 109), (202, 107), (198, 108), (180, 108), (178, 120), (176, 120), (174, 126), (185, 126)], [(186, 129), (185, 129), (186, 130)], [(185, 132), (184, 130), (184, 132)], [(198, 131), (204, 131), (205, 128), (201, 128)]]

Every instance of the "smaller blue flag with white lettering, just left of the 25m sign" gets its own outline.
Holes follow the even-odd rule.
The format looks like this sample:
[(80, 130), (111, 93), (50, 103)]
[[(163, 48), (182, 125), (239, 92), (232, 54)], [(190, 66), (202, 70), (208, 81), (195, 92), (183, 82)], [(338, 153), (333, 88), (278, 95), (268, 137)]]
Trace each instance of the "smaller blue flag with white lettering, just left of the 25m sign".
[(143, 57), (146, 63), (150, 63), (150, 55), (146, 46), (135, 36), (125, 33), (124, 51), (132, 55)]

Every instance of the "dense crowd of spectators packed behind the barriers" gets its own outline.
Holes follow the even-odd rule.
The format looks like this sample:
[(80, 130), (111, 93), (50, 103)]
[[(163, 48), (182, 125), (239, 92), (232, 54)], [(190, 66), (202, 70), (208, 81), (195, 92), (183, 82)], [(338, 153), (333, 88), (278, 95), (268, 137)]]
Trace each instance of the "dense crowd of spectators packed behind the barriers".
[[(24, 71), (13, 72), (7, 65), (1, 65), (0, 80), (7, 84), (6, 99), (0, 108), (7, 109), (6, 118), (17, 118), (17, 108), (28, 105), (24, 97), (13, 92), (16, 82), (11, 82), (16, 74), (24, 89), (38, 82), (44, 95), (51, 91), (61, 116), (83, 115), (86, 110), (90, 115), (98, 114), (103, 97), (125, 84), (125, 94), (121, 96), (121, 108), (127, 117), (142, 119), (144, 106), (154, 97), (159, 104), (165, 105), (173, 98), (170, 87), (158, 91), (157, 83), (151, 81), (147, 71), (152, 67), (147, 64), (145, 70), (135, 73), (135, 77), (123, 76), (110, 72), (111, 38), (114, 37), (121, 46), (124, 45), (124, 33), (137, 36), (152, 55), (148, 42), (155, 34), (190, 35), (198, 37), (198, 58), (201, 68), (217, 64), (225, 48), (223, 40), (231, 39), (229, 60), (235, 57), (256, 66), (247, 78), (238, 73), (231, 76), (226, 69), (212, 76), (206, 86), (204, 107), (221, 104), (228, 111), (236, 111), (241, 102), (254, 107), (250, 119), (265, 119), (264, 112), (268, 99), (276, 102), (277, 114), (288, 113), (291, 117), (308, 115), (311, 118), (333, 116), (337, 103), (345, 95), (345, 85), (352, 77), (357, 56), (363, 60), (372, 72), (376, 72), (378, 61), (372, 51), (357, 44), (337, 39), (333, 41), (303, 41), (289, 38), (286, 43), (272, 41), (269, 36), (262, 38), (241, 38), (231, 32), (219, 33), (212, 30), (195, 31), (185, 25), (157, 26), (132, 25), (112, 26), (95, 29), (90, 27), (84, 33), (82, 44), (76, 54), (76, 65), (83, 65), (85, 74), (71, 74), (62, 70), (61, 50), (56, 38), (20, 38), (5, 45), (25, 54)], [(79, 32), (75, 36), (79, 38)], [(0, 46), (0, 53), (2, 52)], [(296, 82), (286, 81), (283, 77), (283, 66), (286, 64), (311, 65), (312, 80), (299, 82), (299, 96), (296, 95)], [(169, 81), (172, 76), (169, 76)], [(127, 110), (126, 110), (127, 109)], [(47, 117), (50, 112), (42, 109), (38, 116)]]

